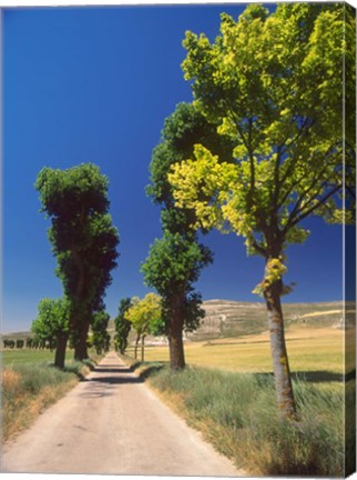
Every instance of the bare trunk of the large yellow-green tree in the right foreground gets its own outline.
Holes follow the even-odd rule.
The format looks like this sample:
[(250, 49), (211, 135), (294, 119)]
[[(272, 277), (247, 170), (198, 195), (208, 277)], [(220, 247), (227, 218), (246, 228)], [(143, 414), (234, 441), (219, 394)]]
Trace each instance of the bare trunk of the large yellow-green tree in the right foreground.
[(271, 351), (278, 407), (284, 418), (296, 419), (296, 406), (285, 344), (284, 319), (280, 303), (282, 288), (282, 280), (277, 280), (265, 290), (264, 297), (267, 308)]

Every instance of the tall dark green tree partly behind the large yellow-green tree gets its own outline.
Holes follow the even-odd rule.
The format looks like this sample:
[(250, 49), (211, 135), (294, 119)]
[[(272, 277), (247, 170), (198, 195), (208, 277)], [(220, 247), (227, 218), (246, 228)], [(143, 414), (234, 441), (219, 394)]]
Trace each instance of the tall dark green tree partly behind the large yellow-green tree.
[(212, 253), (198, 242), (196, 230), (192, 228), (194, 211), (175, 207), (167, 171), (171, 166), (192, 156), (196, 142), (230, 160), (231, 140), (217, 136), (216, 127), (207, 122), (194, 106), (180, 103), (165, 120), (162, 141), (154, 149), (150, 166), (151, 184), (146, 191), (162, 207), (163, 238), (151, 247), (142, 270), (145, 282), (154, 287), (163, 299), (173, 369), (185, 367), (183, 330), (197, 328), (204, 316), (200, 308), (201, 296), (194, 291), (193, 283), (200, 271), (212, 262)]

